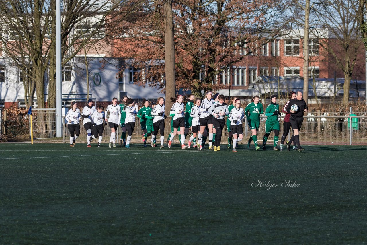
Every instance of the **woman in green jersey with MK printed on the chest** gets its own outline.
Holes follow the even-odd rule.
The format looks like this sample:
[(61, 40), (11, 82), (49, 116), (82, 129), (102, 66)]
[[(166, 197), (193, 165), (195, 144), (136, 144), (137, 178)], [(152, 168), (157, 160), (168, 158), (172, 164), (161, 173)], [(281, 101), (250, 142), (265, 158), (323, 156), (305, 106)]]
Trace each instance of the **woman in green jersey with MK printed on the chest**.
[(251, 129), (251, 136), (247, 141), (247, 147), (250, 148), (251, 141), (254, 140), (256, 150), (260, 149), (260, 147), (257, 145), (257, 130), (260, 126), (260, 114), (264, 113), (264, 107), (259, 102), (259, 99), (260, 97), (255, 95), (252, 98), (251, 103), (245, 108), (247, 123)]

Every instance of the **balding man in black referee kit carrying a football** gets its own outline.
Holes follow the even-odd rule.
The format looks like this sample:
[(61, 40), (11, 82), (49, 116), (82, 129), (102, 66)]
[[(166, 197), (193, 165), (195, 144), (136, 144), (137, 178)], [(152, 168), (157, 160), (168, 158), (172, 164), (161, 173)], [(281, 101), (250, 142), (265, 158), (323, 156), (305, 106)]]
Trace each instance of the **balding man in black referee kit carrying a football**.
[[(291, 106), (294, 104), (298, 105), (298, 111), (291, 111)], [(299, 144), (299, 130), (301, 130), (304, 112), (308, 112), (308, 107), (301, 91), (297, 91), (296, 98), (289, 101), (286, 111), (291, 114), (290, 122), (293, 130), (291, 140), (287, 142), (287, 150), (290, 151), (290, 145), (294, 141), (298, 147), (298, 151), (303, 151), (303, 148)]]

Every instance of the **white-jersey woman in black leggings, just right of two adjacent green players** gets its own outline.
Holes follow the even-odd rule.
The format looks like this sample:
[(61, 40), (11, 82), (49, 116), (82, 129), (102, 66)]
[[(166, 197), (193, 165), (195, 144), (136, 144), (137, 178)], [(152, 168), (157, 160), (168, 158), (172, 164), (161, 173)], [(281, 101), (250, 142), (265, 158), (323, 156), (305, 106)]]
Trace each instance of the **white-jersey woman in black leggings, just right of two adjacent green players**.
[(156, 141), (156, 137), (158, 134), (158, 131), (160, 131), (160, 143), (161, 146), (160, 148), (163, 149), (164, 145), (163, 145), (163, 141), (164, 141), (164, 119), (166, 119), (166, 115), (164, 115), (164, 111), (166, 109), (166, 106), (164, 105), (164, 98), (163, 97), (159, 97), (157, 104), (155, 105), (155, 107), (152, 109), (152, 112), (150, 112), (150, 114), (152, 114), (154, 116), (153, 119), (153, 137), (152, 137), (152, 143), (150, 143), (150, 145), (152, 145), (152, 147), (155, 147), (155, 141)]

